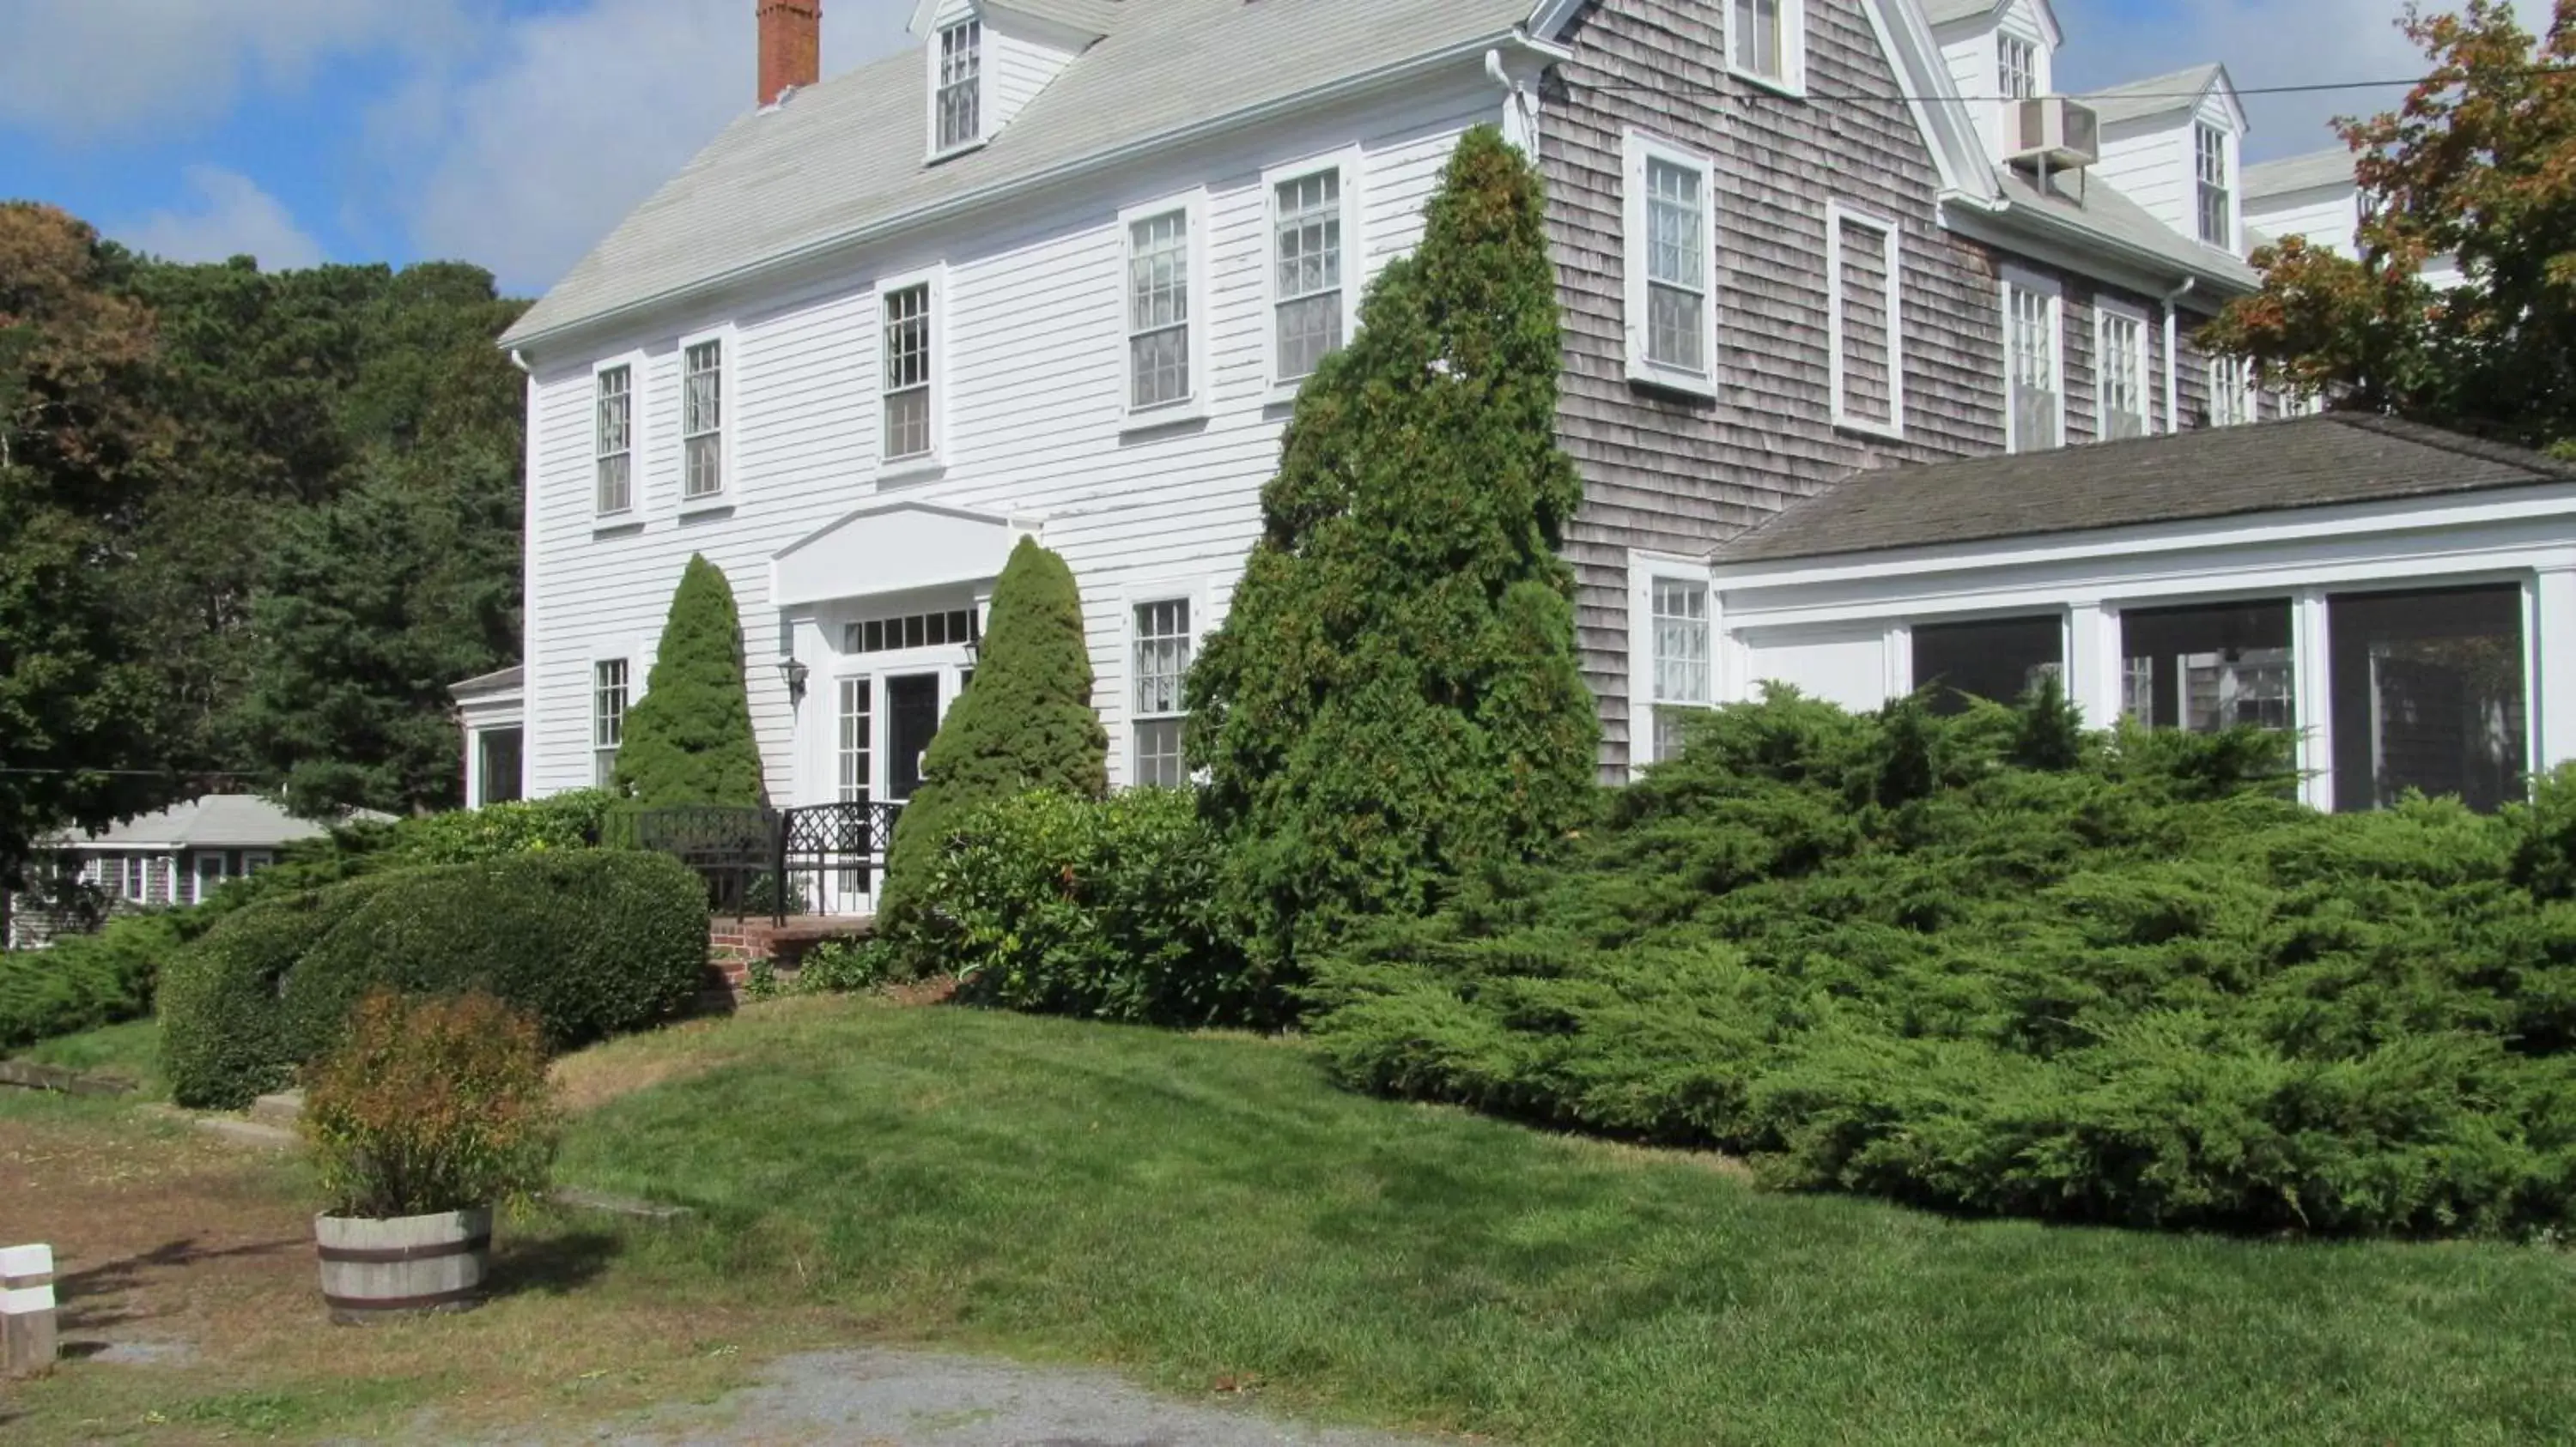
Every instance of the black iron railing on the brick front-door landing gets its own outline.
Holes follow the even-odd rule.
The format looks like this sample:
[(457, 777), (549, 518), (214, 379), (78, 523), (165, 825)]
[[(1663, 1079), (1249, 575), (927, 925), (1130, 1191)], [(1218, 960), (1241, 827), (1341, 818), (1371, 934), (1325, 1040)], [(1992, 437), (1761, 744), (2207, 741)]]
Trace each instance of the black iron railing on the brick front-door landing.
[(876, 901), (902, 803), (809, 808), (647, 808), (634, 845), (706, 881), (708, 914), (866, 914)]

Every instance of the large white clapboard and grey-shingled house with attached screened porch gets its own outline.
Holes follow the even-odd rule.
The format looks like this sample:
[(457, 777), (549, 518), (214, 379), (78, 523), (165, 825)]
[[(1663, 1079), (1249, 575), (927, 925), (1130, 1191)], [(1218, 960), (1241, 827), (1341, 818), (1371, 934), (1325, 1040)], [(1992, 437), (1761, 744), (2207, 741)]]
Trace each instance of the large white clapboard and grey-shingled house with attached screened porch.
[[(1762, 680), (2043, 664), (2092, 718), (2306, 729), (2321, 803), (2576, 754), (2566, 471), (2275, 425), (2318, 399), (2192, 345), (2267, 234), (2215, 64), (2058, 95), (2045, 0), (922, 0), (822, 80), (819, 0), (737, 3), (757, 108), (505, 340), (526, 667), (461, 698), (477, 798), (608, 775), (706, 554), (773, 798), (899, 801), (1020, 536), (1082, 584), (1113, 780), (1182, 780), (1298, 381), (1484, 124), (1548, 180), (1605, 778)], [(2494, 757), (2349, 752), (2432, 708)]]

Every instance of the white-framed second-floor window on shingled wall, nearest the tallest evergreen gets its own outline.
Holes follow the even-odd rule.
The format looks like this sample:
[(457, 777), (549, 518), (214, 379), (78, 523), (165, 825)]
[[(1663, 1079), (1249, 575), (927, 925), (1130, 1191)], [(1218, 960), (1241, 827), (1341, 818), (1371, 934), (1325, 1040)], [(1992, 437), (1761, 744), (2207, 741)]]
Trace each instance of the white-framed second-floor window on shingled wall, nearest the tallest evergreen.
[(1716, 170), (1628, 136), (1628, 376), (1716, 394)]

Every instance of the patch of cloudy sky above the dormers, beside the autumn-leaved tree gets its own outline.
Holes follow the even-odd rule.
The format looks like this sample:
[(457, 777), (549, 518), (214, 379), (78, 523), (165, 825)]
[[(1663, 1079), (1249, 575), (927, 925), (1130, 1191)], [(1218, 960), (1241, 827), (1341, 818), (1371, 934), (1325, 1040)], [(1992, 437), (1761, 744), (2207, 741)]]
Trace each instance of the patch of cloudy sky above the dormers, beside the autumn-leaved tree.
[[(2447, 8), (2445, 3), (2429, 5)], [(2089, 90), (2187, 64), (2221, 62), (2244, 88), (2393, 80), (2424, 72), (2398, 28), (2401, 0), (2056, 0), (2066, 49), (2058, 88)], [(2334, 116), (2396, 108), (2403, 88), (2246, 95), (2254, 160), (2339, 147)]]

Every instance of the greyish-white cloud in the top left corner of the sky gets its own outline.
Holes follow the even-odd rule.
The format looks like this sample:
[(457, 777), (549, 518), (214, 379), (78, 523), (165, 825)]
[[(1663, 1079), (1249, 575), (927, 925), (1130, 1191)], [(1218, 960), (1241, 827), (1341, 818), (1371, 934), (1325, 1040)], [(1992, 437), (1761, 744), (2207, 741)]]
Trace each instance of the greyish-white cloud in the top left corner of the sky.
[(343, 51), (456, 44), (487, 0), (0, 0), (0, 124), (134, 136), (301, 85)]

